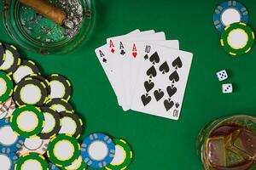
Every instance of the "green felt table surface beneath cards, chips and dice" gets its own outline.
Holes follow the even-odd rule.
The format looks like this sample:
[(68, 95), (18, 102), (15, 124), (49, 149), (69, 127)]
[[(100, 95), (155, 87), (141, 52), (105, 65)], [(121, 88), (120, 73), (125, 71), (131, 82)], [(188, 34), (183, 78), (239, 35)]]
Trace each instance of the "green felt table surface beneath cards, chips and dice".
[[(0, 41), (15, 44), (23, 59), (40, 65), (45, 76), (60, 73), (73, 85), (71, 99), (84, 120), (81, 140), (90, 133), (108, 133), (126, 139), (134, 150), (129, 169), (201, 170), (195, 152), (197, 135), (207, 122), (219, 116), (245, 113), (256, 116), (256, 48), (234, 58), (224, 52), (220, 33), (212, 24), (217, 0), (96, 0), (96, 20), (90, 38), (68, 54), (32, 54), (20, 48), (1, 22)], [(256, 3), (243, 0), (249, 25), (256, 26)], [(0, 3), (3, 9), (3, 3)], [(1, 14), (2, 15), (2, 14)], [(2, 17), (2, 16), (1, 16)], [(165, 31), (180, 48), (194, 54), (180, 119), (172, 121), (136, 111), (122, 111), (100, 65), (95, 48), (107, 37), (140, 29)], [(216, 71), (227, 69), (236, 86), (233, 94), (222, 94)]]

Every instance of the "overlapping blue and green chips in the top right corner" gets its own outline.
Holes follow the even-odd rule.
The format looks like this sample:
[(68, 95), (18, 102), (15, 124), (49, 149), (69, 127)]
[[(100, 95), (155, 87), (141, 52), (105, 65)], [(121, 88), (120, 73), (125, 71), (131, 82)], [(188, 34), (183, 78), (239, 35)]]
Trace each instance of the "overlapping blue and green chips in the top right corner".
[(218, 5), (213, 14), (213, 23), (221, 32), (220, 43), (230, 55), (247, 54), (254, 44), (254, 32), (247, 26), (247, 8), (237, 1)]

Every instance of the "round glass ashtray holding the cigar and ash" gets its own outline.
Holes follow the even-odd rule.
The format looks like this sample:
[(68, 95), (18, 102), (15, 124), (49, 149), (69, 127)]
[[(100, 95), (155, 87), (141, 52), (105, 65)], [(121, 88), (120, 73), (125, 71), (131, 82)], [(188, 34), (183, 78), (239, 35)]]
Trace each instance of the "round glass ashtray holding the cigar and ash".
[[(56, 6), (60, 0), (50, 0)], [(39, 15), (18, 0), (3, 0), (3, 23), (15, 42), (37, 54), (64, 54), (76, 48), (90, 33), (94, 20), (91, 0), (79, 0), (83, 8), (78, 31), (73, 37), (65, 28)]]

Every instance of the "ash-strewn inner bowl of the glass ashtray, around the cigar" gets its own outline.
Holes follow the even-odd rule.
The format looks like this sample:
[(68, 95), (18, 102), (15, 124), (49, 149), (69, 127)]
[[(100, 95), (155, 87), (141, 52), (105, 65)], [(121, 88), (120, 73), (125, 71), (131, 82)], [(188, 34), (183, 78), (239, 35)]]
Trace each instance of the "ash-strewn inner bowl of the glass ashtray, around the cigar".
[(26, 37), (36, 39), (41, 43), (55, 43), (76, 36), (84, 18), (84, 10), (80, 1), (50, 0), (49, 3), (53, 3), (58, 8), (64, 10), (67, 14), (67, 19), (60, 26), (37, 14), (32, 8), (20, 4), (20, 25), (23, 31), (26, 32)]

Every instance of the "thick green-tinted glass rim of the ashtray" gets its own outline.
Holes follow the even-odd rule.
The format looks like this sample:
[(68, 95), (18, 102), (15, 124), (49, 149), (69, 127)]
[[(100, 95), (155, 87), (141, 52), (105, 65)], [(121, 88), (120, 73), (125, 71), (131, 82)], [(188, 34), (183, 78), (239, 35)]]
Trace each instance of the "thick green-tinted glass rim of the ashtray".
[(73, 38), (66, 42), (55, 43), (54, 45), (46, 45), (46, 43), (37, 43), (33, 39), (26, 37), (17, 26), (15, 19), (15, 8), (20, 3), (14, 0), (3, 0), (3, 23), (9, 36), (17, 42), (22, 48), (36, 54), (66, 54), (77, 48), (79, 44), (90, 37), (91, 30), (95, 24), (95, 5), (92, 0), (80, 0), (84, 5), (84, 20), (79, 32)]

